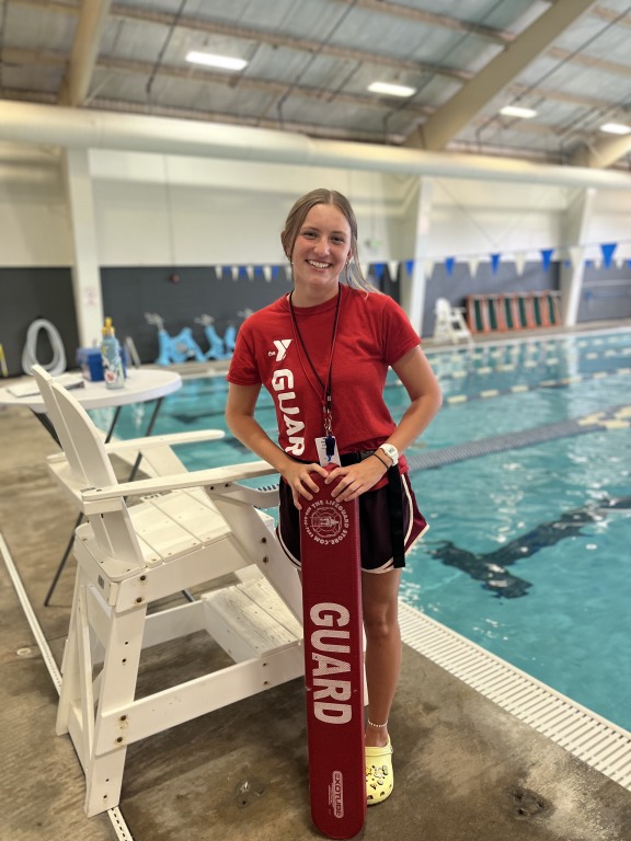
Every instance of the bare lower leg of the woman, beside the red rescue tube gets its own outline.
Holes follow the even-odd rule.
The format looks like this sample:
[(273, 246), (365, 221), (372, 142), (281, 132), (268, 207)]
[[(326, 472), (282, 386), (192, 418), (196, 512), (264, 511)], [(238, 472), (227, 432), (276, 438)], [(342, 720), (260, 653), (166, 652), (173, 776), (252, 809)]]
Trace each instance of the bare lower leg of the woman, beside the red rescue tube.
[[(386, 724), (401, 668), (399, 583), (401, 571), (362, 574), (362, 601), (366, 631), (366, 683), (368, 721)], [(366, 727), (366, 746), (388, 744), (388, 727)]]

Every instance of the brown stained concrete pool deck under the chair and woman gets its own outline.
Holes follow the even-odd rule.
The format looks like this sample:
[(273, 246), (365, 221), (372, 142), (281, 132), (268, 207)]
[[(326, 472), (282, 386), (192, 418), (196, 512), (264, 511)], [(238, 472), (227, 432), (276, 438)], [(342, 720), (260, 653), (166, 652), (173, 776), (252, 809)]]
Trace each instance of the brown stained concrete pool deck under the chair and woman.
[[(76, 520), (45, 466), (56, 445), (27, 410), (0, 410), (0, 533), (60, 663), (73, 561), (43, 601)], [(87, 818), (57, 690), (0, 564), (0, 839), (296, 841), (309, 815), (301, 681), (133, 745), (117, 813)], [(213, 669), (206, 634), (151, 649), (139, 690)], [(391, 715), (394, 794), (359, 838), (398, 841), (629, 841), (631, 792), (404, 647)]]

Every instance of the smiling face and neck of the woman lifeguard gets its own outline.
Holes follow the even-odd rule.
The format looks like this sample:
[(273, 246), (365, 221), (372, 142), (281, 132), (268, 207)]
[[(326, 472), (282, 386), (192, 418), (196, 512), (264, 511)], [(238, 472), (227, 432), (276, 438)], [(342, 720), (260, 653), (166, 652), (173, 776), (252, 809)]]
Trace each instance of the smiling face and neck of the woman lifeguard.
[(351, 256), (351, 226), (335, 205), (314, 205), (298, 229), (290, 254), (294, 303), (313, 307), (337, 293), (340, 274)]

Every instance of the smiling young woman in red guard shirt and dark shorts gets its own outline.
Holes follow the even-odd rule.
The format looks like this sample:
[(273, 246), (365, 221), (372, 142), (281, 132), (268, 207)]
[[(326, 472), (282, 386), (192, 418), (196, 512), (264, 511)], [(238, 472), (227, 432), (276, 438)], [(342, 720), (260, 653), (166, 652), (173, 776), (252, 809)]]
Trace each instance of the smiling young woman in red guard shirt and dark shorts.
[[(404, 552), (427, 528), (402, 452), (438, 408), (438, 383), (403, 310), (363, 278), (348, 200), (314, 189), (291, 208), (282, 233), (294, 288), (241, 326), (228, 381), (234, 436), (272, 464), (280, 482), (278, 537), (300, 566), (299, 514), (318, 486), (358, 498), (366, 632), (366, 793), (393, 786), (388, 717), (401, 664), (398, 595)], [(395, 424), (383, 401), (389, 366), (410, 396)], [(254, 419), (261, 387), (274, 400), (278, 443)], [(324, 470), (329, 461), (340, 464)]]

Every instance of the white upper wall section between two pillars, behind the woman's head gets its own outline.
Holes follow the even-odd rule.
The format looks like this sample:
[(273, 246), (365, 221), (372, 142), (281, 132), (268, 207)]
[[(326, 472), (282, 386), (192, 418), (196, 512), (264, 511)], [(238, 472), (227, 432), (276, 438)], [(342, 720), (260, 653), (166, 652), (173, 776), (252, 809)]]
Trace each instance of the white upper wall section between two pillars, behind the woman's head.
[(283, 223), (314, 187), (348, 196), (363, 258), (398, 251), (399, 182), (380, 173), (104, 151), (91, 171), (104, 266), (285, 263)]

